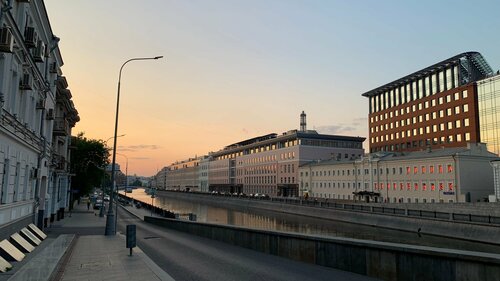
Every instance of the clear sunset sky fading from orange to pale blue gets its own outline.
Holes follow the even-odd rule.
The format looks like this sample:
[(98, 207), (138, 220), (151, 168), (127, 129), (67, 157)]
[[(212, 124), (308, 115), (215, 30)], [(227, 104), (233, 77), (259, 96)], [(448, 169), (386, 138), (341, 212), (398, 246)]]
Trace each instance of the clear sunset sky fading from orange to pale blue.
[[(299, 128), (368, 137), (361, 94), (467, 51), (500, 69), (500, 1), (45, 0), (80, 122), (117, 163), (175, 161)], [(113, 146), (113, 141), (108, 142)], [(367, 150), (365, 141), (365, 150)], [(122, 156), (125, 155), (125, 156)]]

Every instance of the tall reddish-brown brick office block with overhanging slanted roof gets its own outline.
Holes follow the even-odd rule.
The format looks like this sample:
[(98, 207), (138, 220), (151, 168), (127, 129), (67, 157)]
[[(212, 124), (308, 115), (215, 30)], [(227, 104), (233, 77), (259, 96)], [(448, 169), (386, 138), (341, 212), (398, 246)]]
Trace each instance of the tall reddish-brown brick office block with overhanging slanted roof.
[(370, 152), (465, 147), (480, 134), (478, 81), (493, 74), (467, 52), (368, 91)]

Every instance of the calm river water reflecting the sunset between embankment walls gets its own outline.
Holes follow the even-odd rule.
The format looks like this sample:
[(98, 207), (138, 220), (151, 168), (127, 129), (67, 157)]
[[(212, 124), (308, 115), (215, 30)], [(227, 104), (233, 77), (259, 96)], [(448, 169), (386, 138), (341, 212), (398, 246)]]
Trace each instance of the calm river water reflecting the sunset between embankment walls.
[[(134, 189), (127, 196), (148, 204), (152, 202), (151, 196), (144, 189)], [(497, 245), (263, 210), (230, 209), (161, 195), (154, 198), (154, 206), (179, 213), (181, 218), (183, 214), (194, 213), (197, 221), (206, 223), (500, 254), (500, 246)]]

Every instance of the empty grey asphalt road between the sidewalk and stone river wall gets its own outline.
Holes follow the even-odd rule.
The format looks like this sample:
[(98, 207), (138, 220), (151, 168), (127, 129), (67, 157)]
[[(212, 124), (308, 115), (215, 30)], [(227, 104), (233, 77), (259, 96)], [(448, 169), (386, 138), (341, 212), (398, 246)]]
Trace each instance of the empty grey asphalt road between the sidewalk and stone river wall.
[(160, 228), (119, 209), (118, 231), (135, 224), (137, 245), (177, 281), (377, 280)]

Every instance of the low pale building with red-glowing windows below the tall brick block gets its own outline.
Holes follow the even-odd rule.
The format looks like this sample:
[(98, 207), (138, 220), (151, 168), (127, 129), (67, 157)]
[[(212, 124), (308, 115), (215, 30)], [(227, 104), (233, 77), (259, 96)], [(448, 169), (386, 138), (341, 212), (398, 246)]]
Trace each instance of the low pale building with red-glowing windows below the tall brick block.
[(311, 162), (299, 168), (310, 197), (364, 202), (435, 203), (484, 201), (494, 192), (482, 143), (413, 152), (377, 152), (355, 160)]

